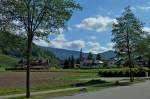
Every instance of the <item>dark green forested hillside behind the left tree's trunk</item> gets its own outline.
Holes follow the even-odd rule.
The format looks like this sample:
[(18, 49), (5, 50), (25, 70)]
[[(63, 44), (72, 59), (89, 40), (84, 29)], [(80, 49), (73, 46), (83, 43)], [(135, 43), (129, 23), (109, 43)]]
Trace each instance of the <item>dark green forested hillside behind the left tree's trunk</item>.
[[(20, 58), (25, 56), (26, 49), (26, 39), (8, 32), (0, 33), (0, 67), (3, 67), (5, 61), (10, 60), (9, 66), (11, 63), (17, 62)], [(4, 57), (4, 58), (3, 58)], [(13, 58), (13, 62), (12, 62)], [(49, 59), (53, 65), (57, 65), (59, 63), (58, 59), (55, 55), (48, 51), (44, 50), (37, 45), (33, 44), (32, 47), (32, 58), (43, 58)]]

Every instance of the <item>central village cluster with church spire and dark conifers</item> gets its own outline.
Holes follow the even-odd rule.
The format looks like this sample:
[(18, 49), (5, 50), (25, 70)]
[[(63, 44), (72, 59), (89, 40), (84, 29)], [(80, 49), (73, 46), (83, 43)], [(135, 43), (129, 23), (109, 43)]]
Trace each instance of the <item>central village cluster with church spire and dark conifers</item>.
[(87, 56), (83, 55), (82, 49), (80, 50), (79, 58), (74, 59), (74, 56), (66, 58), (62, 65), (64, 69), (69, 68), (111, 68), (113, 66), (112, 61), (103, 60), (100, 54), (97, 54), (96, 57), (89, 52)]

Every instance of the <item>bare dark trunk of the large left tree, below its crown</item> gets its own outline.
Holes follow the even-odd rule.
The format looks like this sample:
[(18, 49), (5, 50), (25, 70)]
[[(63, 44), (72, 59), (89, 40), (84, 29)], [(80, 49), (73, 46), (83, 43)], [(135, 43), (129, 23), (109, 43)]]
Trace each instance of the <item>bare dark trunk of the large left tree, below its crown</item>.
[(32, 37), (28, 38), (27, 42), (27, 70), (26, 70), (26, 97), (30, 97), (30, 58), (32, 50)]

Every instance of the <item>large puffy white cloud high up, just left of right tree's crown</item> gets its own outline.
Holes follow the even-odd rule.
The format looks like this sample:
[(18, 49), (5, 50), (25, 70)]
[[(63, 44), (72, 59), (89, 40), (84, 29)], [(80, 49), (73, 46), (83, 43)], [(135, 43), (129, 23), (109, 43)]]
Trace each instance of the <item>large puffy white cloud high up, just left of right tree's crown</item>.
[(103, 32), (103, 31), (109, 31), (114, 22), (116, 22), (116, 19), (112, 19), (107, 16), (89, 17), (82, 20), (82, 22), (76, 25), (76, 27), (86, 29), (86, 30), (93, 30), (96, 32)]

